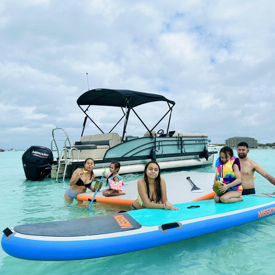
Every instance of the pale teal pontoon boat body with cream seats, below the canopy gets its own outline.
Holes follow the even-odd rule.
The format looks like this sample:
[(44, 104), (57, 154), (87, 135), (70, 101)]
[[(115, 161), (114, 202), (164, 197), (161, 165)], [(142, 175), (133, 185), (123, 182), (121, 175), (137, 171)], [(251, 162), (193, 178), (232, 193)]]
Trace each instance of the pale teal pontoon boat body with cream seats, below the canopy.
[(70, 177), (86, 158), (95, 161), (94, 172), (100, 176), (112, 161), (120, 162), (120, 174), (142, 172), (145, 164), (156, 160), (161, 169), (200, 168), (213, 163), (214, 152), (207, 150), (205, 133), (175, 133), (175, 136), (131, 137), (120, 140), (118, 133), (85, 135), (72, 146), (63, 148), (58, 163), (52, 165), (51, 177)]

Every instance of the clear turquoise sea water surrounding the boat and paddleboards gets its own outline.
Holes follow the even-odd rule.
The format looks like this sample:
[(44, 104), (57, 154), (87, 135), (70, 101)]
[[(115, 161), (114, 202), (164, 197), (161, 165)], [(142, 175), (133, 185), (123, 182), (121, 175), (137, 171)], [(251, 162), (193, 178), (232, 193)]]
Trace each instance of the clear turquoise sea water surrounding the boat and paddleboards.
[[(0, 229), (22, 223), (64, 220), (114, 213), (126, 206), (94, 203), (91, 210), (65, 202), (68, 185), (25, 180), (23, 151), (0, 152)], [(217, 156), (217, 155), (216, 155)], [(248, 156), (275, 175), (275, 149), (251, 149)], [(213, 172), (213, 167), (195, 169)], [(133, 173), (124, 176), (131, 180)], [(257, 192), (273, 192), (275, 186), (256, 174)], [(33, 261), (14, 258), (0, 249), (0, 274), (273, 274), (275, 217), (145, 250), (95, 259)], [(121, 244), (122, 245), (122, 244)]]

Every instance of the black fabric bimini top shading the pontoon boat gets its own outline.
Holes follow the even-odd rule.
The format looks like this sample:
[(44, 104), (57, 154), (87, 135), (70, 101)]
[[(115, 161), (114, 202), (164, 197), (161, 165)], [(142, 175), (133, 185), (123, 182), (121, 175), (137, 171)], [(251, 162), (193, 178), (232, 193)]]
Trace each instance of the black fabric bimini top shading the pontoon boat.
[(172, 105), (175, 104), (174, 101), (159, 94), (124, 89), (92, 89), (81, 94), (76, 100), (78, 105), (100, 105), (130, 108), (154, 101), (166, 101)]

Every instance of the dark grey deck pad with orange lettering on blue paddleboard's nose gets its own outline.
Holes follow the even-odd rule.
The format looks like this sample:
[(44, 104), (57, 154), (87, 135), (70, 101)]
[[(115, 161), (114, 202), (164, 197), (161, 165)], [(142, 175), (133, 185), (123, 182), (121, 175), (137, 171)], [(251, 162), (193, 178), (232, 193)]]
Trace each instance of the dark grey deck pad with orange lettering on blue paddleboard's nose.
[(14, 226), (21, 234), (40, 236), (85, 236), (140, 228), (127, 212), (71, 220), (38, 222)]

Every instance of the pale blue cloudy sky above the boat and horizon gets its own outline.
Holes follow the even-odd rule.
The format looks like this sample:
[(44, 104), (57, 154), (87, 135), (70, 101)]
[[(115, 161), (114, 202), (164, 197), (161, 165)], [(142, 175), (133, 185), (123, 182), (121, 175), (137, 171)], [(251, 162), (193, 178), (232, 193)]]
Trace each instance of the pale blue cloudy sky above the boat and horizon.
[[(1, 0), (0, 148), (49, 147), (56, 126), (79, 140), (88, 86), (162, 94), (176, 102), (170, 129), (212, 143), (274, 142), (274, 10), (273, 0)], [(140, 111), (151, 123), (163, 114)], [(116, 112), (94, 114), (108, 131)], [(127, 134), (145, 132), (135, 123)]]

